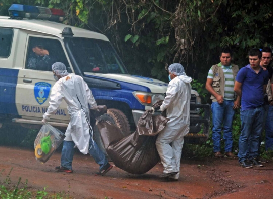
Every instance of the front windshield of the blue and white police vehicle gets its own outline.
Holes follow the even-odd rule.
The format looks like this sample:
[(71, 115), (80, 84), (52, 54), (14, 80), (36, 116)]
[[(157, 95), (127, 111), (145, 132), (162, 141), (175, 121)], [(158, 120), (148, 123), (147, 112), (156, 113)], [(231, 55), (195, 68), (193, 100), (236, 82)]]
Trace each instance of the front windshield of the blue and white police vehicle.
[(73, 37), (69, 47), (82, 72), (128, 73), (114, 48), (108, 41)]

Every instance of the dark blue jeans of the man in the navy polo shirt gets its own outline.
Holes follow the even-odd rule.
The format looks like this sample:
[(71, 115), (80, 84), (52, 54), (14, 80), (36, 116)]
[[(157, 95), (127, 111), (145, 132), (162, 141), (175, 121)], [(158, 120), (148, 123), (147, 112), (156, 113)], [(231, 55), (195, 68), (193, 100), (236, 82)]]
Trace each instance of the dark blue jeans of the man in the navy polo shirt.
[(239, 138), (239, 162), (252, 160), (259, 155), (259, 140), (262, 133), (264, 107), (241, 110), (241, 135)]

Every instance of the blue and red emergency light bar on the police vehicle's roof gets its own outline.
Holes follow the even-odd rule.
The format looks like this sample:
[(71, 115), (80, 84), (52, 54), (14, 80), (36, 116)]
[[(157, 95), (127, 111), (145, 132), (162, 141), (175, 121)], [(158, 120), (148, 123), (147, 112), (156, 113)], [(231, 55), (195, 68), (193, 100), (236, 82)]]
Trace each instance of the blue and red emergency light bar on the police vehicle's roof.
[[(53, 12), (52, 12), (53, 11)], [(40, 6), (27, 6), (13, 4), (9, 8), (10, 16), (14, 18), (47, 19), (51, 21), (63, 21), (64, 12), (59, 9), (50, 9)]]

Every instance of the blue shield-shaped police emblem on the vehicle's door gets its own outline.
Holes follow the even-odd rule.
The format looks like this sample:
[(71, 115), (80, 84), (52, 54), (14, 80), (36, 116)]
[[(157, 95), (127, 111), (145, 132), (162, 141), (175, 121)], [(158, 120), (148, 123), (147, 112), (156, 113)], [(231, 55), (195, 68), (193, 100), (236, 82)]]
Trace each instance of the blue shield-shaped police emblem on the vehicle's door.
[(36, 101), (42, 105), (47, 101), (51, 89), (51, 84), (46, 82), (37, 82), (34, 86), (34, 95)]

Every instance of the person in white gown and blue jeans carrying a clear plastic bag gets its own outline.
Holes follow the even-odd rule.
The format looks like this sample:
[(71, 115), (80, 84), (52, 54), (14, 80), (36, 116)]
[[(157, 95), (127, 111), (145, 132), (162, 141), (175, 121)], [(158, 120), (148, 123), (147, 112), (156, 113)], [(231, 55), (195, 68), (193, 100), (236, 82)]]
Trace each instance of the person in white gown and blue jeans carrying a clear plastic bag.
[(63, 100), (68, 104), (67, 109), (70, 115), (70, 123), (65, 133), (66, 137), (62, 149), (61, 166), (55, 167), (55, 169), (72, 173), (74, 148), (77, 147), (83, 154), (87, 154), (89, 151), (96, 163), (100, 165), (100, 170), (95, 175), (103, 176), (113, 166), (109, 164), (104, 153), (92, 139), (92, 134), (89, 134), (89, 129), (92, 132), (92, 128), (89, 124), (88, 104), (90, 107), (97, 105), (92, 92), (83, 81), (83, 78), (75, 74), (69, 74), (63, 63), (54, 63), (52, 71), (57, 82), (51, 90), (50, 106), (43, 115), (42, 123), (48, 122), (50, 116), (56, 113)]

